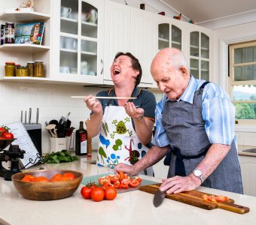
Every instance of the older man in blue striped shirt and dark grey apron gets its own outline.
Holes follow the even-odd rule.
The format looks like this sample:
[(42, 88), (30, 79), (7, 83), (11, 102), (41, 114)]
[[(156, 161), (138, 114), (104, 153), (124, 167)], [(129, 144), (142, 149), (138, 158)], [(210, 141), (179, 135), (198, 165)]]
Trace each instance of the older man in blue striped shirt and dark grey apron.
[(157, 104), (154, 146), (133, 166), (118, 164), (130, 175), (157, 163), (171, 148), (168, 178), (160, 190), (194, 190), (200, 185), (242, 193), (242, 178), (234, 141), (234, 107), (214, 83), (197, 80), (178, 49), (162, 49), (151, 74), (165, 94)]

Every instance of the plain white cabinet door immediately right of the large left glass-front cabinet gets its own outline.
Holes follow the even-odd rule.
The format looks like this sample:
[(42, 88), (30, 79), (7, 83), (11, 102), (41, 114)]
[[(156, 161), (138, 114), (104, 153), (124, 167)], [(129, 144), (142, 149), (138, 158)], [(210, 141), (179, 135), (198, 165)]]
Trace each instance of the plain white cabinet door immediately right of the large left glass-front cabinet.
[(117, 52), (130, 52), (130, 11), (128, 5), (105, 4), (104, 83), (113, 85), (110, 68)]

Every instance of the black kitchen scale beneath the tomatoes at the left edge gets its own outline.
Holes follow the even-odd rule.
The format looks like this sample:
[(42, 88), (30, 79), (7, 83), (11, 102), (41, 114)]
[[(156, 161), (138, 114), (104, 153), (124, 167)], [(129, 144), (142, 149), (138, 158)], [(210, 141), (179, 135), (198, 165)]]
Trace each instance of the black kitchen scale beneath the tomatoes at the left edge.
[[(24, 157), (25, 151), (20, 150), (19, 145), (11, 145), (14, 139), (0, 139), (0, 176), (5, 178), (5, 181), (11, 181), (11, 176), (17, 172), (19, 169), (19, 160)], [(3, 150), (8, 145), (10, 145), (9, 150)], [(11, 169), (5, 169), (2, 166), (2, 162), (11, 161)]]

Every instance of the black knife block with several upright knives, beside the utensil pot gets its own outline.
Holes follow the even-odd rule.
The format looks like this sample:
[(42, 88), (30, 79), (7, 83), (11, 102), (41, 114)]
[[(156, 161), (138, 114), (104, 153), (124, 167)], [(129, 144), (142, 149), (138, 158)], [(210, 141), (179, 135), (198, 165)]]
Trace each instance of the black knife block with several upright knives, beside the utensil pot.
[[(32, 109), (29, 108), (29, 122), (26, 122), (26, 112), (25, 112), (25, 123), (23, 123), (23, 126), (26, 128), (26, 131), (29, 133), (30, 138), (32, 139), (32, 142), (35, 145), (35, 148), (38, 150), (38, 153), (41, 156), (41, 124), (38, 123), (38, 114), (39, 110), (37, 108), (36, 110), (36, 121), (35, 123), (31, 123), (31, 115), (32, 115)], [(21, 122), (23, 122), (22, 118), (23, 112), (21, 112)]]

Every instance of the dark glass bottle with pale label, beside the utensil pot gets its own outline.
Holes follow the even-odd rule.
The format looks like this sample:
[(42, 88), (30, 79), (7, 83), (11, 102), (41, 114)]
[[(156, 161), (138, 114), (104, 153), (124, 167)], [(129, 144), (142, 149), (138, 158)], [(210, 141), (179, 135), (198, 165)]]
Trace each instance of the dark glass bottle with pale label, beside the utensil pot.
[(80, 121), (80, 127), (75, 131), (75, 154), (87, 155), (87, 130), (84, 129), (83, 121)]

